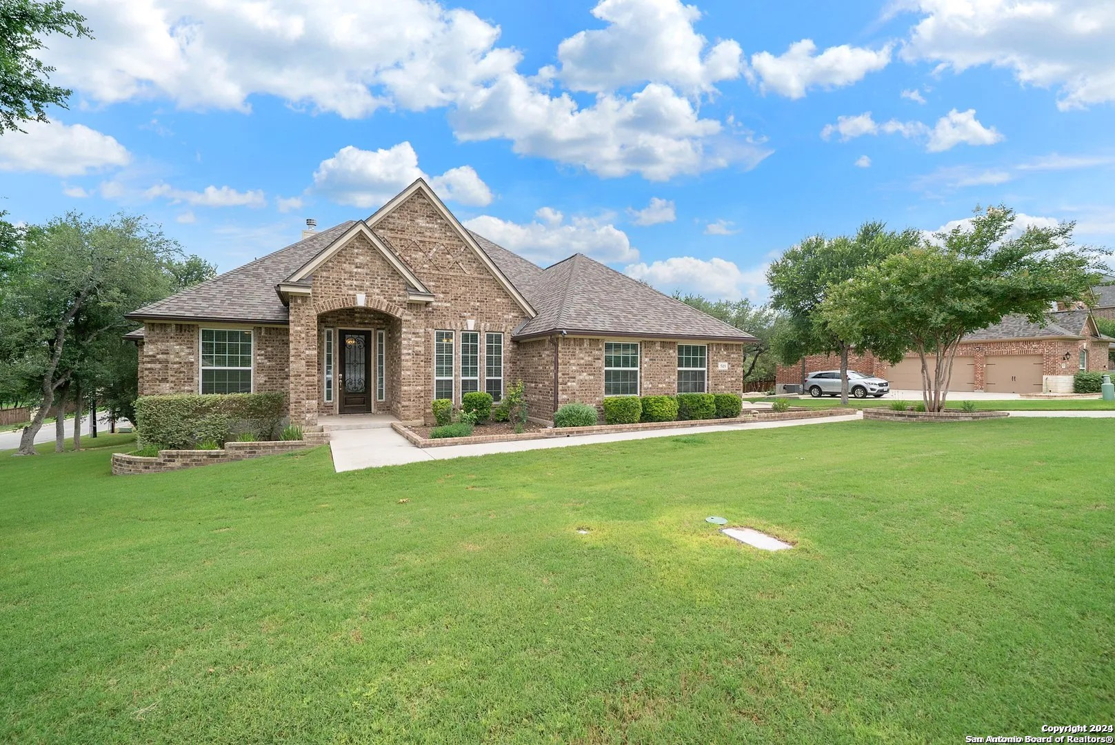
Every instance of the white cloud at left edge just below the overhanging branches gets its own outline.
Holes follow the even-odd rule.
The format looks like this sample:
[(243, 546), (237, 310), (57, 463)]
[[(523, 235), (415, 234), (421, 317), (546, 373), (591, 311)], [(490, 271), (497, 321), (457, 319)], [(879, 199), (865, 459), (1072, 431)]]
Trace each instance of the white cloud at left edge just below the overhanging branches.
[(28, 171), (55, 176), (127, 165), (130, 153), (115, 137), (84, 124), (25, 122), (25, 132), (0, 137), (0, 171)]

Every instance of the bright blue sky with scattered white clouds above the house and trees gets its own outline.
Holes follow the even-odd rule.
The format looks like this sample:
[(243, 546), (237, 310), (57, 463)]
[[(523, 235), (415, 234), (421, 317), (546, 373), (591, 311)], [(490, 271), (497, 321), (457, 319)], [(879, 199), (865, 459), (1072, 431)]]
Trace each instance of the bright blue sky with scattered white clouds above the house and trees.
[[(542, 265), (766, 294), (772, 257), (976, 204), (1115, 248), (1103, 0), (81, 0), (74, 88), (0, 137), (0, 202), (148, 215), (224, 271), (425, 175)], [(369, 7), (363, 7), (365, 4)]]

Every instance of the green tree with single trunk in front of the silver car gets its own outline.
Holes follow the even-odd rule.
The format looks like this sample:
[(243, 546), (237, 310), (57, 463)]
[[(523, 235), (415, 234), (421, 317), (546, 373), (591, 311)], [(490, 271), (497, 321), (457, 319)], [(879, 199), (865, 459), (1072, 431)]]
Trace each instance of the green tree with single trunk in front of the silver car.
[[(770, 264), (770, 306), (784, 311), (775, 325), (772, 347), (784, 365), (807, 355), (840, 355), (841, 403), (847, 405), (847, 355), (855, 344), (818, 311), (834, 288), (857, 271), (878, 264), (919, 241), (914, 230), (888, 231), (883, 223), (864, 223), (854, 238), (814, 235), (786, 251)], [(862, 337), (856, 346), (869, 349)]]

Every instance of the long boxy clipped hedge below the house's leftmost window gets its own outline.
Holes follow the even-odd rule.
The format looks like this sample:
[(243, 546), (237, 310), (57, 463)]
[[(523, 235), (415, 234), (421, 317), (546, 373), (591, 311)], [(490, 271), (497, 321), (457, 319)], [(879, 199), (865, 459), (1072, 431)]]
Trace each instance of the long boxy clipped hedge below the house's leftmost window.
[(287, 397), (264, 394), (169, 394), (136, 399), (136, 434), (142, 445), (190, 449), (205, 441), (224, 445), (240, 433), (273, 439)]

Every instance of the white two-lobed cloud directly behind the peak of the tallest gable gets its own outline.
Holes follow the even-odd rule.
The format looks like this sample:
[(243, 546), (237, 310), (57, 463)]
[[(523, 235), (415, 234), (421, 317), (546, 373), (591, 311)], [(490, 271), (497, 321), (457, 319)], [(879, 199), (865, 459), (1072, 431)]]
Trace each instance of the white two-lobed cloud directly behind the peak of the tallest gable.
[(406, 141), (376, 151), (342, 147), (318, 165), (313, 188), (338, 204), (368, 209), (382, 205), (417, 178), (426, 178), (438, 196), (458, 204), (484, 206), (492, 202), (492, 191), (471, 166), (427, 176)]

